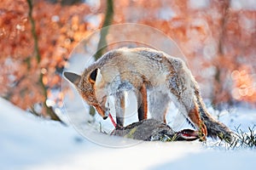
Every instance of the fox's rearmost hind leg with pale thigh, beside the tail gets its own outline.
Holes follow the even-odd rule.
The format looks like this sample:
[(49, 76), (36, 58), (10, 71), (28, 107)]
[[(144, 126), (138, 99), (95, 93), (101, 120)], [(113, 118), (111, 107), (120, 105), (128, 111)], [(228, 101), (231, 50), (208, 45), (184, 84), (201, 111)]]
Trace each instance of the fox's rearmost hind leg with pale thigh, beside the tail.
[(207, 127), (201, 120), (200, 109), (197, 104), (195, 95), (197, 83), (183, 61), (175, 60), (175, 63), (177, 65), (172, 65), (172, 69), (166, 77), (170, 98), (189, 122), (193, 123), (201, 131), (201, 139), (205, 140)]

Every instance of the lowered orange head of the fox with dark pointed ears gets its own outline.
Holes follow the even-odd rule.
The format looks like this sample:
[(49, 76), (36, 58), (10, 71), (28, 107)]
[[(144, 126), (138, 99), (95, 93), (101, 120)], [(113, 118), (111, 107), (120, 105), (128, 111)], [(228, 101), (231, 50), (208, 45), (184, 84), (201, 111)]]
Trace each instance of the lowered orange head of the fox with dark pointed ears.
[[(100, 69), (95, 69), (93, 71), (85, 70), (80, 76), (73, 72), (64, 72), (64, 77), (67, 78), (69, 82), (72, 82), (75, 88), (79, 91), (82, 98), (89, 104), (96, 108), (96, 111), (103, 117), (107, 119), (105, 103), (107, 97), (97, 98), (96, 89), (102, 84), (102, 75)], [(100, 91), (100, 90), (98, 90)], [(97, 93), (102, 94), (102, 93)]]

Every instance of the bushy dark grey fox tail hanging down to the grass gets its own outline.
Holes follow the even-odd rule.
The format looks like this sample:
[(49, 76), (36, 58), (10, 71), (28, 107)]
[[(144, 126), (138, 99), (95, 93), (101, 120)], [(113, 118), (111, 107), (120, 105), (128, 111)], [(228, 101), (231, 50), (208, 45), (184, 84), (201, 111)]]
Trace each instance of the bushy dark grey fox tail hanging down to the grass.
[(207, 135), (213, 139), (219, 138), (231, 143), (233, 140), (233, 133), (230, 128), (226, 127), (222, 122), (218, 122), (213, 119), (213, 117), (207, 112), (206, 106), (199, 94), (199, 90), (195, 90), (195, 96), (197, 104), (199, 105), (201, 120), (207, 126)]

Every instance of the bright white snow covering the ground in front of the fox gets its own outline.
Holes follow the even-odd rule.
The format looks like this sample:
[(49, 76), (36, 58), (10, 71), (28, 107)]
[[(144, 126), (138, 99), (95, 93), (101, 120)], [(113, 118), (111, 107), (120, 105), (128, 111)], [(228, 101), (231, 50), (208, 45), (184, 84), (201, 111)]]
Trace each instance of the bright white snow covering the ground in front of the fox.
[[(238, 114), (237, 113), (242, 113)], [(221, 116), (245, 130), (256, 111)], [(102, 140), (124, 139), (95, 134)], [(0, 99), (0, 169), (254, 169), (255, 150), (219, 150), (194, 142), (142, 142), (110, 148), (84, 139), (73, 127), (45, 121)]]

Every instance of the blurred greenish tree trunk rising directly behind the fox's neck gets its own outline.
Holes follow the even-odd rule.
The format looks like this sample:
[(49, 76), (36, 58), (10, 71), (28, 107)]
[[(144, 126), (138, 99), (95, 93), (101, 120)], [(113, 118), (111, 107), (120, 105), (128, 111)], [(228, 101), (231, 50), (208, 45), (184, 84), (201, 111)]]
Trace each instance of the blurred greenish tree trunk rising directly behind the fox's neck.
[[(98, 47), (96, 54), (94, 54), (95, 59), (99, 59), (102, 57), (102, 54), (104, 54), (106, 48), (107, 48), (107, 35), (108, 35), (108, 26), (112, 24), (113, 20), (113, 0), (107, 0), (107, 9), (106, 9), (106, 14), (104, 18), (104, 22), (102, 25), (103, 30), (101, 30), (101, 37), (98, 42)], [(107, 26), (107, 27), (106, 27)], [(90, 115), (94, 116), (95, 115), (95, 109), (90, 106)]]

